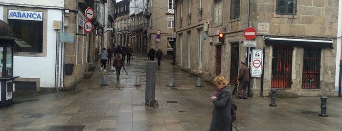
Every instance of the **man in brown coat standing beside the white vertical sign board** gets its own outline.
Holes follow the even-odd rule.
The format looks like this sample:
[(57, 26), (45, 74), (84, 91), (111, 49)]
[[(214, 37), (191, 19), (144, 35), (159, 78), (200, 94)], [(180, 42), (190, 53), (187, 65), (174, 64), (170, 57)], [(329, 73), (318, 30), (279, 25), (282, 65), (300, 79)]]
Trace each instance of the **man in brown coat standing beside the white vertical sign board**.
[(235, 98), (247, 99), (247, 87), (250, 82), (250, 73), (245, 62), (241, 61), (240, 66), (241, 68), (238, 77), (239, 87), (237, 88), (237, 96)]

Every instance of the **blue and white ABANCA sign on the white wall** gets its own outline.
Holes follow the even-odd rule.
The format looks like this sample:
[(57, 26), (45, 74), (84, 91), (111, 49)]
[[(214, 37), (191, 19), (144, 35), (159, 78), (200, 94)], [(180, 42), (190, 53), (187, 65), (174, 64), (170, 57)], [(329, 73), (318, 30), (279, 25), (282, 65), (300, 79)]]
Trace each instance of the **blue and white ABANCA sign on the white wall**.
[(43, 12), (8, 10), (8, 19), (43, 21)]

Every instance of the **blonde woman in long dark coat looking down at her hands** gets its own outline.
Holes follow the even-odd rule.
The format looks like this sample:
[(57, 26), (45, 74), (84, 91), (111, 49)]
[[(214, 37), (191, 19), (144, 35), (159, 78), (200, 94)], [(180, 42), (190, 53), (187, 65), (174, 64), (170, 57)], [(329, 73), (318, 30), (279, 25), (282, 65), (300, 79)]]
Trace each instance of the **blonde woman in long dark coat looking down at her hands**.
[(218, 90), (211, 97), (215, 108), (209, 131), (231, 131), (231, 88), (226, 78), (221, 75), (216, 76), (213, 82)]

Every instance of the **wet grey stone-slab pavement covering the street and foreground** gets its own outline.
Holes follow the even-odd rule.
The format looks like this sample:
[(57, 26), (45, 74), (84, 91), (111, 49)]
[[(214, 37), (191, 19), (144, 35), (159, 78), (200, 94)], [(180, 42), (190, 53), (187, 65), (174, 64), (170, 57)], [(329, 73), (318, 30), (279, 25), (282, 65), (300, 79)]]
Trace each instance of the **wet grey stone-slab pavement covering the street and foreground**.
[[(120, 80), (98, 63), (74, 91), (15, 95), (15, 104), (0, 108), (0, 131), (208, 131), (216, 87), (204, 81), (196, 87), (196, 77), (164, 58), (156, 69), (158, 105), (145, 106), (146, 63), (137, 53), (126, 64), (129, 76), (121, 70)], [(108, 86), (102, 86), (103, 75)], [(276, 98), (277, 107), (269, 106), (270, 97), (233, 101), (233, 131), (342, 131), (341, 97), (328, 96), (329, 117), (318, 116), (319, 97)]]

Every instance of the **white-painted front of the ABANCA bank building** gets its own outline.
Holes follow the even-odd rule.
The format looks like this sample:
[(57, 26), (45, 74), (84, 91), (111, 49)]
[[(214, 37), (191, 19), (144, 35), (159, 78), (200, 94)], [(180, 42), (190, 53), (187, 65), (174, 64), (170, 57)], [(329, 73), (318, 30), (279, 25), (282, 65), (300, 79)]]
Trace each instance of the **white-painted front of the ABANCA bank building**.
[[(36, 88), (55, 87), (60, 74), (61, 58), (57, 53), (57, 31), (54, 21), (63, 21), (64, 0), (1, 0), (0, 20), (7, 22), (17, 38), (32, 47), (14, 48), (16, 81), (36, 82)], [(59, 61), (60, 62), (60, 61)], [(39, 90), (39, 89), (38, 89)]]

